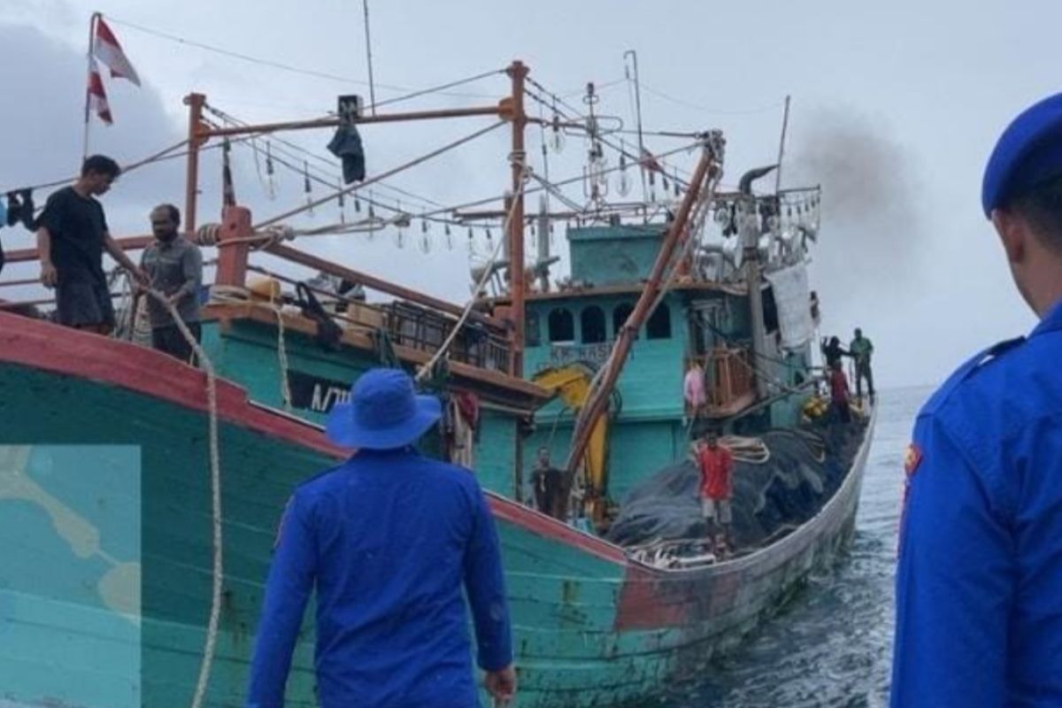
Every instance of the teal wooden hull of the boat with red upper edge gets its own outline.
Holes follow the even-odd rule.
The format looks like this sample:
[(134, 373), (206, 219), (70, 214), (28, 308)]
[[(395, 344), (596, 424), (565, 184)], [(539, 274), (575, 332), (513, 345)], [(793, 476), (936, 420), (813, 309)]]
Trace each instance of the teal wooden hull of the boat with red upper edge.
[[(252, 403), (232, 383), (219, 382), (218, 400), (224, 592), (207, 696), (210, 706), (232, 706), (243, 698), (284, 503), (295, 484), (342, 452), (318, 427)], [(136, 623), (92, 593), (58, 588), (57, 597), (46, 597), (38, 586), (0, 587), (0, 636), (18, 637), (17, 645), (0, 641), (0, 702), (189, 705), (211, 604), (207, 417), (202, 372), (134, 345), (0, 314), (0, 449), (80, 446), (96, 451), (86, 452), (86, 464), (116, 446), (139, 451), (139, 559), (121, 559), (139, 565)], [(837, 557), (852, 535), (869, 442), (868, 433), (844, 481), (812, 519), (760, 551), (696, 570), (641, 565), (617, 546), (491, 494), (514, 622), (517, 705), (647, 705), (674, 681), (702, 675), (809, 573)], [(37, 483), (62, 497), (73, 494), (75, 479), (54, 474)], [(93, 501), (91, 490), (79, 494)], [(19, 537), (21, 566), (0, 574), (8, 586), (20, 576), (47, 577), (34, 565), (44, 559), (32, 554), (46, 543), (62, 546), (48, 515), (32, 504), (0, 498), (0, 518), (12, 503), (33, 519), (21, 525), (35, 531)], [(84, 510), (108, 547), (103, 530), (113, 512), (97, 503)], [(0, 522), (0, 533), (12, 533), (10, 525)], [(59, 552), (48, 563), (76, 557)], [(56, 611), (55, 603), (70, 608)], [(72, 635), (89, 637), (80, 647), (95, 661), (76, 666), (65, 693), (49, 693), (39, 677), (65, 671), (72, 659), (48, 647)], [(91, 649), (105, 641), (112, 642), (106, 651)], [(138, 671), (129, 673), (125, 663), (136, 660)], [(115, 680), (121, 671), (132, 683)], [(309, 619), (286, 705), (314, 705)]]

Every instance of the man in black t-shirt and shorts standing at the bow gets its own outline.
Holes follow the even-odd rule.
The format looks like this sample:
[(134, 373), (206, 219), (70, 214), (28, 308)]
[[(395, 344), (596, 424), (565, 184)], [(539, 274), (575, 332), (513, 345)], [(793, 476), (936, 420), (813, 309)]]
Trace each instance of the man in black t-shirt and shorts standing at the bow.
[(115, 311), (103, 273), (104, 249), (137, 280), (144, 281), (140, 269), (110, 238), (103, 207), (93, 198), (106, 193), (120, 173), (109, 157), (87, 158), (78, 182), (49, 196), (37, 221), (40, 281), (55, 289), (55, 314), (62, 325), (101, 334), (114, 329)]

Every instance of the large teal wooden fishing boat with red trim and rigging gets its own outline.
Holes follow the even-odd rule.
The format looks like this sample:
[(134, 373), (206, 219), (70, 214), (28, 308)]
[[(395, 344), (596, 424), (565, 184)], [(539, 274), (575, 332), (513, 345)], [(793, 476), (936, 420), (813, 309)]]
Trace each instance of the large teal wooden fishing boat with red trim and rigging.
[[(724, 190), (716, 131), (684, 134), (688, 144), (671, 155), (621, 145), (609, 168), (596, 101), (587, 116), (535, 119), (525, 107), (527, 67), (507, 72), (511, 93), (494, 105), (367, 114), (341, 99), (335, 117), (280, 124), (207, 122), (205, 97), (190, 94), (186, 227), (217, 249), (201, 368), (0, 312), (0, 536), (15, 549), (0, 571), (0, 637), (13, 639), (0, 641), (0, 705), (239, 705), (275, 524), (295, 484), (344, 456), (320, 424), (373, 366), (406, 367), (444, 399), (425, 451), (465, 464), (487, 490), (519, 706), (647, 705), (703, 674), (838, 556), (853, 534), (873, 408), (841, 432), (817, 414), (806, 265), (818, 190), (758, 192), (769, 168)], [(511, 129), (512, 177), (485, 210), (422, 217), (501, 226), (464, 305), (296, 247), (301, 234), (285, 222), (302, 209), (256, 223), (228, 182), (220, 221), (198, 227), (208, 140), (468, 117)], [(544, 200), (526, 212), (532, 190), (560, 200), (564, 187), (532, 184), (529, 124), (587, 140), (586, 170), (570, 183), (585, 190), (578, 210), (554, 212)], [(661, 166), (690, 146), (698, 162), (688, 177)], [(605, 198), (607, 175), (623, 170), (645, 178), (647, 198)], [(332, 232), (410, 218), (396, 208), (390, 223), (366, 214)], [(558, 225), (568, 225), (564, 278), (548, 247)], [(264, 255), (285, 266), (267, 269)], [(34, 258), (8, 254), (8, 262)], [(683, 398), (691, 370), (701, 372), (703, 400)], [(683, 534), (618, 536), (624, 500), (633, 506), (658, 488), (662, 469), (688, 468), (706, 430), (750, 446), (738, 478), (783, 459), (802, 479), (820, 474), (787, 487), (789, 478), (768, 473), (748, 498), (737, 484), (735, 506), (759, 521), (726, 555)], [(798, 444), (775, 447), (786, 435)], [(531, 463), (541, 451), (564, 482), (559, 508), (535, 507)], [(803, 505), (790, 508), (787, 494)], [(763, 503), (780, 495), (785, 508)], [(287, 705), (315, 705), (311, 616)]]

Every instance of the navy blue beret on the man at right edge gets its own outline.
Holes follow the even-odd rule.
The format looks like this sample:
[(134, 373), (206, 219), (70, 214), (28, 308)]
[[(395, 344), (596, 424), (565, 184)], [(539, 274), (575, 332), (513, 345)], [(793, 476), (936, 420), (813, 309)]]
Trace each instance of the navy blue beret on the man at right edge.
[(993, 209), (1062, 174), (1062, 93), (1026, 108), (999, 136), (984, 167), (981, 207)]

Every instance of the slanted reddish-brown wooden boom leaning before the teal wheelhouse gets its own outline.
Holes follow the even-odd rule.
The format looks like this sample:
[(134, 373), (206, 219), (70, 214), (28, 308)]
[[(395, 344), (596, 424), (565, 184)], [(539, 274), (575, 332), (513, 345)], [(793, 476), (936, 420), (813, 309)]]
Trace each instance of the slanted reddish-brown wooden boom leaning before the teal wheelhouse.
[[(652, 306), (661, 295), (665, 272), (674, 259), (674, 255), (682, 244), (683, 237), (692, 238), (687, 235), (689, 217), (693, 210), (693, 205), (702, 198), (702, 190), (705, 183), (717, 180), (722, 172), (722, 136), (718, 133), (708, 134), (705, 140), (701, 159), (697, 163), (693, 176), (689, 180), (689, 189), (679, 207), (675, 215), (668, 228), (664, 242), (661, 244), (660, 253), (656, 254), (656, 261), (653, 270), (649, 274), (649, 279), (638, 297), (634, 310), (628, 316), (622, 329), (616, 336), (616, 344), (613, 346), (609, 360), (603, 367), (603, 375), (600, 382), (593, 387), (586, 401), (583, 403), (579, 415), (576, 418), (575, 429), (571, 438), (571, 449), (568, 452), (568, 460), (565, 465), (567, 484), (570, 485), (576, 471), (582, 464), (586, 446), (589, 443), (590, 434), (594, 431), (594, 424), (604, 414), (605, 405), (612, 396), (612, 391), (616, 386), (627, 356), (631, 351), (631, 345), (641, 326), (652, 314)], [(710, 187), (707, 187), (710, 189)]]

